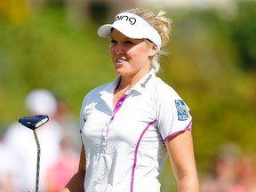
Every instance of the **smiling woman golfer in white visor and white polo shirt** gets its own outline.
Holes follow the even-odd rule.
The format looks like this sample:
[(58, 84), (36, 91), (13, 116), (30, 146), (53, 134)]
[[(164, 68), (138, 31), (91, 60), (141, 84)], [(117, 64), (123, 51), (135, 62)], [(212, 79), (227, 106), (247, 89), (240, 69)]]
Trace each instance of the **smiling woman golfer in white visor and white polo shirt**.
[(178, 191), (199, 191), (192, 117), (156, 76), (170, 27), (164, 12), (132, 9), (99, 28), (118, 76), (84, 97), (79, 170), (62, 192), (159, 192), (167, 156)]

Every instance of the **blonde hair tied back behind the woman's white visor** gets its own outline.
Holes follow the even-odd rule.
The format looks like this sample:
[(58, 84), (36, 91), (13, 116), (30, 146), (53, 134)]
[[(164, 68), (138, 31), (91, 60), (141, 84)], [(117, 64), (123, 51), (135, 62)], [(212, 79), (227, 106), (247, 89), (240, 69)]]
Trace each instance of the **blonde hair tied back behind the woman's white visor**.
[(158, 61), (159, 56), (165, 54), (165, 52), (162, 51), (162, 48), (164, 48), (166, 44), (168, 44), (169, 42), (172, 21), (164, 17), (164, 11), (158, 12), (157, 15), (155, 15), (152, 12), (148, 12), (148, 10), (140, 8), (130, 9), (125, 12), (131, 12), (133, 14), (140, 16), (143, 20), (146, 20), (149, 23), (149, 25), (155, 28), (156, 31), (161, 36), (161, 50), (156, 53), (156, 55), (153, 57), (151, 61), (151, 67), (154, 68), (156, 72), (158, 72), (160, 69), (160, 63)]

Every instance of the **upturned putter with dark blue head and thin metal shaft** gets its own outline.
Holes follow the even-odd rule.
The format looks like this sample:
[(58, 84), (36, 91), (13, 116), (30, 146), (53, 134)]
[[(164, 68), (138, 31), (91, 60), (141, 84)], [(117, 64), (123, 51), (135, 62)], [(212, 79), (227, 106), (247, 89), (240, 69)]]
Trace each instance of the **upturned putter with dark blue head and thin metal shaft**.
[(38, 192), (39, 187), (39, 172), (40, 172), (40, 143), (36, 134), (36, 129), (41, 125), (49, 121), (49, 116), (40, 115), (40, 116), (24, 116), (19, 119), (19, 123), (28, 127), (34, 132), (34, 137), (36, 139), (37, 146), (37, 163), (36, 163), (36, 192)]

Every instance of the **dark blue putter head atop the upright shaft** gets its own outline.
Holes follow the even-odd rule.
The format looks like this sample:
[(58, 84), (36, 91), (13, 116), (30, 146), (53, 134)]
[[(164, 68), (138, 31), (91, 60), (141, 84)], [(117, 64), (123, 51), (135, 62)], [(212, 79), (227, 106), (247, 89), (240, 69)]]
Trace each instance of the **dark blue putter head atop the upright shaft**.
[(45, 124), (48, 121), (49, 121), (49, 116), (47, 115), (24, 116), (19, 119), (20, 124), (28, 127), (31, 130), (36, 130), (36, 128)]

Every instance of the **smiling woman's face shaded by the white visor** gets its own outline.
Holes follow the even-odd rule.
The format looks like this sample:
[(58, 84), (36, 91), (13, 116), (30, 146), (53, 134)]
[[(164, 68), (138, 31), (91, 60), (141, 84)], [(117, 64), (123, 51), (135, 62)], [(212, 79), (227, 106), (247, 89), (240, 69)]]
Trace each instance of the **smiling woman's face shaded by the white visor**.
[(142, 77), (148, 74), (157, 47), (155, 44), (148, 44), (145, 39), (132, 39), (114, 29), (111, 33), (109, 52), (120, 76)]

